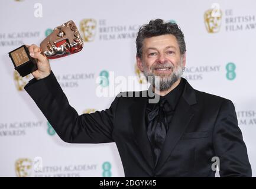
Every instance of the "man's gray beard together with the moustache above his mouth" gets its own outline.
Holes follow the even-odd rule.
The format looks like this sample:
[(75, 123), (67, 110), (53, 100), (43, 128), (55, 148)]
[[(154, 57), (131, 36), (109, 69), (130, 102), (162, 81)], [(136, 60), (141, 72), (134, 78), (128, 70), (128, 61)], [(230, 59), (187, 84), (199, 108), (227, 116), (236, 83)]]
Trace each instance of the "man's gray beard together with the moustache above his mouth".
[[(171, 63), (164, 63), (164, 64), (156, 64), (151, 67), (151, 70), (145, 66), (143, 63), (143, 70), (144, 70), (144, 76), (146, 77), (147, 81), (150, 82), (155, 89), (159, 91), (168, 90), (173, 86), (177, 80), (179, 80), (182, 77), (182, 63), (183, 58), (180, 58), (180, 63), (177, 64), (177, 67), (174, 67)], [(153, 71), (155, 69), (166, 69), (170, 68), (172, 71), (168, 76), (166, 74), (154, 74)]]

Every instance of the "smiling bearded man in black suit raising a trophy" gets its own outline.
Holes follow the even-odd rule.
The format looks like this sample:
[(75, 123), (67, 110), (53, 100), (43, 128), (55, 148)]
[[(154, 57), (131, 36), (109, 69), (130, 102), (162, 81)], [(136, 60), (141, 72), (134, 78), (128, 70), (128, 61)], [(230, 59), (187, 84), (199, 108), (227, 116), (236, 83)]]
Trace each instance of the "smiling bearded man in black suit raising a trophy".
[[(48, 60), (38, 59), (25, 90), (61, 139), (70, 143), (116, 142), (126, 177), (251, 177), (247, 148), (231, 100), (199, 92), (183, 79), (186, 45), (180, 28), (161, 19), (138, 31), (137, 66), (154, 96), (120, 93), (109, 109), (78, 115), (69, 105)], [(127, 97), (125, 97), (127, 96)]]

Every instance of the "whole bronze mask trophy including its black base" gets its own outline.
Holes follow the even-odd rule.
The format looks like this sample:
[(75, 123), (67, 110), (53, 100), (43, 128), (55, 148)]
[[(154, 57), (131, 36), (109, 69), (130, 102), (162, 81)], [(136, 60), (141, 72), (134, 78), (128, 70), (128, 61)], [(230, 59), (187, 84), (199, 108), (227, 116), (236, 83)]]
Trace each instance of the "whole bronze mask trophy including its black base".
[[(41, 44), (41, 54), (48, 59), (55, 59), (77, 53), (83, 48), (83, 38), (73, 21), (68, 21), (57, 28), (45, 38)], [(15, 70), (22, 77), (37, 70), (35, 58), (30, 56), (25, 45), (9, 52), (9, 57), (14, 64)]]

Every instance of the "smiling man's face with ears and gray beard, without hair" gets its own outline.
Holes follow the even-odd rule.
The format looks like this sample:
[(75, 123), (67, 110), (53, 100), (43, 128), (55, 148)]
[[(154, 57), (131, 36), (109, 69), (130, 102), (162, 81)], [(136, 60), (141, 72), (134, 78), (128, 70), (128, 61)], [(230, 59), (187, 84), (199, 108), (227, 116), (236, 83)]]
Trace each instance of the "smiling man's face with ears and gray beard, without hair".
[(137, 66), (146, 77), (160, 77), (160, 91), (169, 89), (181, 77), (185, 64), (186, 56), (180, 54), (177, 39), (171, 34), (145, 38), (142, 57), (137, 57)]

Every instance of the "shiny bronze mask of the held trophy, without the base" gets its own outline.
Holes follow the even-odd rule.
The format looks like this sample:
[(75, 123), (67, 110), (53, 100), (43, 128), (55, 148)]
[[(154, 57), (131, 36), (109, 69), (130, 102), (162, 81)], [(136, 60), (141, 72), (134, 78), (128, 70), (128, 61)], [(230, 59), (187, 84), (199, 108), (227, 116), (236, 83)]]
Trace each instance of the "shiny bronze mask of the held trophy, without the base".
[(78, 53), (83, 48), (83, 38), (73, 21), (68, 21), (48, 35), (40, 44), (43, 54), (49, 58), (60, 58)]

